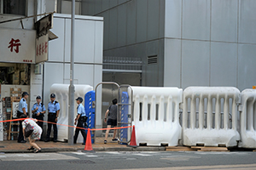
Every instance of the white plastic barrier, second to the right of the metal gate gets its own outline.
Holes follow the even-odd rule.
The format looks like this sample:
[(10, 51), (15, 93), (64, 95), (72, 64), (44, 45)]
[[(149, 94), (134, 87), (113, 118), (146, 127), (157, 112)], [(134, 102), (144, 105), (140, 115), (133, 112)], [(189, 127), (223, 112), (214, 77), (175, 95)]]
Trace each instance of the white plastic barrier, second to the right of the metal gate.
[(239, 102), (237, 88), (186, 88), (183, 92), (183, 144), (236, 146), (240, 140), (236, 105)]

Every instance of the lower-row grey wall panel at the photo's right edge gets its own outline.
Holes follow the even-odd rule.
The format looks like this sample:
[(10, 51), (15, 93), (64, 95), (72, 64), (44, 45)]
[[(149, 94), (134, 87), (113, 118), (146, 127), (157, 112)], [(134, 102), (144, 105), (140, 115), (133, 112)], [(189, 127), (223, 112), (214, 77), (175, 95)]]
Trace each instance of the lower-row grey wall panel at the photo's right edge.
[(256, 85), (256, 45), (238, 45), (238, 88), (244, 90)]

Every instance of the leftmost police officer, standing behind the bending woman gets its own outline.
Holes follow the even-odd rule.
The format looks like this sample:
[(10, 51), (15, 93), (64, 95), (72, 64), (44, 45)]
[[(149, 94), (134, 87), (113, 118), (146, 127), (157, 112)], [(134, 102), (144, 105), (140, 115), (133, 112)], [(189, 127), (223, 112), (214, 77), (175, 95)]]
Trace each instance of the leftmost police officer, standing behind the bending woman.
[[(20, 116), (25, 115), (28, 116), (27, 113), (27, 104), (26, 99), (28, 98), (27, 92), (23, 92), (21, 94), (22, 98), (20, 99), (19, 103), (19, 110), (17, 111), (17, 116), (20, 118)], [(18, 143), (26, 143), (26, 140), (24, 139), (23, 135), (23, 128), (22, 128), (22, 121), (20, 121), (20, 130), (19, 130), (19, 137), (18, 137)]]

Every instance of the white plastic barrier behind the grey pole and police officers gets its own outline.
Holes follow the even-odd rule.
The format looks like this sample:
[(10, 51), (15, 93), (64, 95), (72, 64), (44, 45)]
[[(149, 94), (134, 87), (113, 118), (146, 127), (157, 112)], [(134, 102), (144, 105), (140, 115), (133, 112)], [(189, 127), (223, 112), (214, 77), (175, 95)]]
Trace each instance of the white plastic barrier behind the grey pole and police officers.
[[(89, 85), (74, 85), (75, 87), (75, 99), (78, 97), (82, 97), (84, 99), (84, 95), (91, 91), (93, 88)], [(68, 90), (69, 84), (53, 84), (50, 87), (50, 93), (56, 95), (56, 100), (60, 103), (61, 111), (60, 111), (60, 118), (58, 120), (58, 123), (68, 125)], [(74, 100), (75, 100), (74, 99)], [(84, 105), (84, 101), (83, 101)], [(74, 109), (74, 118), (77, 116), (77, 104), (75, 102), (75, 109)], [(57, 125), (58, 127), (58, 140), (64, 141), (65, 139), (68, 139), (68, 127)], [(75, 128), (74, 128), (75, 130)], [(78, 143), (82, 143), (83, 137), (82, 135), (79, 135)]]

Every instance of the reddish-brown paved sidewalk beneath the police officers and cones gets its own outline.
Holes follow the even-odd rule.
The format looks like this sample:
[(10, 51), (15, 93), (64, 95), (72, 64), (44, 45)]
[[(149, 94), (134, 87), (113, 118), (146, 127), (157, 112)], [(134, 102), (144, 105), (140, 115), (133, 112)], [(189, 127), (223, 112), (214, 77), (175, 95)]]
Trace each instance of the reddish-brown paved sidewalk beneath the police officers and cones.
[[(118, 144), (117, 142), (112, 142), (111, 138), (108, 138), (108, 144), (103, 143), (103, 138), (96, 138), (96, 143), (92, 144), (92, 149), (94, 151), (159, 151), (166, 150), (166, 147), (148, 147), (148, 146), (139, 146), (133, 148), (127, 146), (126, 144)], [(39, 147), (42, 148), (42, 152), (58, 152), (58, 151), (78, 151), (84, 150), (84, 145), (82, 144), (73, 144), (69, 145), (62, 142), (44, 142), (36, 141)], [(26, 150), (30, 147), (29, 142), (25, 144), (17, 143), (17, 140), (5, 140), (0, 142), (0, 152), (3, 153), (29, 153), (31, 151)]]

